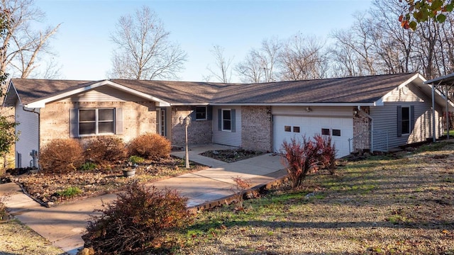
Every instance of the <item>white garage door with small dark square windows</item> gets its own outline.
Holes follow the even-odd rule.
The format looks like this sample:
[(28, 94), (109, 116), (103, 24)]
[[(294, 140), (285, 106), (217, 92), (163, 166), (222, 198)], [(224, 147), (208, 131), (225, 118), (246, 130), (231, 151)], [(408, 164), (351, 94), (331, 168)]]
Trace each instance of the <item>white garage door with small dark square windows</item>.
[(332, 141), (336, 145), (337, 157), (344, 157), (350, 154), (348, 138), (353, 137), (352, 118), (275, 115), (273, 120), (275, 152), (279, 152), (284, 140), (290, 142), (292, 137), (297, 137), (301, 140), (303, 135), (309, 138), (314, 136), (314, 134), (322, 134), (323, 132), (323, 135), (331, 135)]

